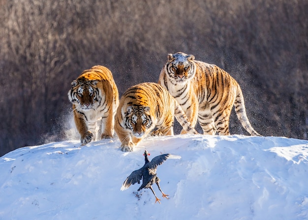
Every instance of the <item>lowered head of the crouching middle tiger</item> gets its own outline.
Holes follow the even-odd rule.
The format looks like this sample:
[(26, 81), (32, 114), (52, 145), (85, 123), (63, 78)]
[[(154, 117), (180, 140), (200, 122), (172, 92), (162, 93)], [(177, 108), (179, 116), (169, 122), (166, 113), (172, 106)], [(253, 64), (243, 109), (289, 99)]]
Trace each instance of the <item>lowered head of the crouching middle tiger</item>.
[(132, 134), (136, 138), (141, 138), (147, 131), (152, 131), (154, 123), (150, 107), (147, 106), (129, 106), (125, 113), (125, 125), (126, 128), (132, 131)]

